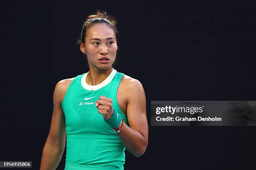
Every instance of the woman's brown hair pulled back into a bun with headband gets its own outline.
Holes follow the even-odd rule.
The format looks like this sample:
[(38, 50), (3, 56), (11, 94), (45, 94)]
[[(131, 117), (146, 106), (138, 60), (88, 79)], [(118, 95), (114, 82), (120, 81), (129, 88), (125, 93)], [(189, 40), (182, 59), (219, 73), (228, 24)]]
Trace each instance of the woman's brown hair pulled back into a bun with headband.
[(94, 24), (98, 23), (106, 23), (112, 30), (115, 32), (116, 42), (117, 41), (117, 30), (116, 30), (116, 20), (113, 16), (107, 15), (107, 12), (102, 11), (100, 12), (97, 10), (97, 13), (95, 15), (89, 15), (87, 17), (87, 20), (83, 22), (81, 36), (77, 40), (77, 44), (80, 45), (81, 43), (84, 43), (84, 38), (86, 37), (87, 30)]

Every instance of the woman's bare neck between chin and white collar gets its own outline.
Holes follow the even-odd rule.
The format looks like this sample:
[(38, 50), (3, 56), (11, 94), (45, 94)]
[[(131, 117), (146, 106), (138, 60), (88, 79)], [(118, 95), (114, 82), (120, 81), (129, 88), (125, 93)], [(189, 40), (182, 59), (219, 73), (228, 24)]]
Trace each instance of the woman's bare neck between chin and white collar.
[(112, 72), (113, 68), (109, 67), (106, 70), (100, 70), (97, 68), (90, 68), (86, 76), (86, 82), (88, 85), (98, 85), (104, 81)]

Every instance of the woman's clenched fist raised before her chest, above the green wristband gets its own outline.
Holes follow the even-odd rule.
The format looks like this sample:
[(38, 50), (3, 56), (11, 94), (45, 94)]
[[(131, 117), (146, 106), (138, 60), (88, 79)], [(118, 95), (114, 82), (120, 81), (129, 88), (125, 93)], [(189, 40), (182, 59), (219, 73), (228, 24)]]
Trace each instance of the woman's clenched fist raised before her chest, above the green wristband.
[(103, 115), (104, 120), (109, 120), (113, 115), (112, 100), (105, 96), (100, 96), (99, 100), (96, 100), (95, 107), (98, 108), (98, 112)]

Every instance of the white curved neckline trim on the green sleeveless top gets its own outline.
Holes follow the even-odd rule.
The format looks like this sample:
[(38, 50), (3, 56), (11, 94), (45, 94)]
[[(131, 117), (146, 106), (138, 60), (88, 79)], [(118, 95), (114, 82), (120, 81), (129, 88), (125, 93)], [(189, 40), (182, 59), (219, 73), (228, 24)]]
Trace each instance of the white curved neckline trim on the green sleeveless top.
[[(89, 72), (89, 71), (88, 71)], [(88, 85), (87, 82), (86, 82), (86, 77), (87, 77), (87, 73), (85, 73), (82, 78), (81, 78), (81, 85), (82, 87), (84, 87), (86, 90), (90, 90), (90, 91), (94, 91), (94, 90), (98, 90), (102, 87), (104, 87), (105, 85), (108, 85), (108, 83), (110, 83), (114, 76), (115, 76), (115, 73), (116, 73), (116, 70), (113, 68), (112, 72), (110, 73), (110, 75), (108, 75), (108, 77), (103, 80), (100, 84), (98, 85)]]

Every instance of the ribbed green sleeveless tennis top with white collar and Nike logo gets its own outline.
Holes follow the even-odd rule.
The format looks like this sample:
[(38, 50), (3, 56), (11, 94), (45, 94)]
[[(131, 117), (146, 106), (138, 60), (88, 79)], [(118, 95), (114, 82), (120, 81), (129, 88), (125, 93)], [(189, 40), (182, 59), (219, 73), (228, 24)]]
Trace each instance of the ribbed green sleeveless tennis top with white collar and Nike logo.
[(113, 109), (128, 125), (116, 97), (123, 73), (113, 69), (102, 83), (94, 86), (87, 84), (86, 76), (84, 73), (72, 80), (61, 104), (67, 133), (65, 170), (123, 170), (125, 147), (95, 107), (100, 96), (112, 99)]

